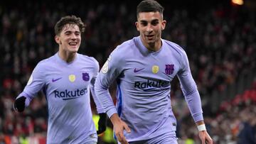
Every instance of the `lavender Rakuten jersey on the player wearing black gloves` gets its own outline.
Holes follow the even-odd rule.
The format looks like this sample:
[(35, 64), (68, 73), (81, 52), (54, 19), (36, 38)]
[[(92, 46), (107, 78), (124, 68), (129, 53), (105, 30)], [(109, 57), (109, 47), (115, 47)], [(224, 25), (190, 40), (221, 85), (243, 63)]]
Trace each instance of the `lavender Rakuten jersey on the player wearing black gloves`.
[(103, 109), (94, 92), (98, 71), (99, 65), (94, 58), (80, 54), (76, 54), (73, 62), (67, 63), (56, 53), (36, 65), (28, 84), (18, 97), (26, 96), (28, 106), (33, 97), (43, 90), (48, 103), (47, 143), (97, 141), (90, 92), (98, 113), (102, 113)]

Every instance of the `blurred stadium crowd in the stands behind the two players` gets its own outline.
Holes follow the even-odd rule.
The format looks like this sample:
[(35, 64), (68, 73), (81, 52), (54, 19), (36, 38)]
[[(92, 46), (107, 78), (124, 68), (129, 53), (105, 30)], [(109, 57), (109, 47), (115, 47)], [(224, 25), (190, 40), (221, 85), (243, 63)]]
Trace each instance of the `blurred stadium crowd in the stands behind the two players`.
[[(210, 104), (213, 92), (223, 92), (242, 75), (256, 70), (255, 10), (245, 6), (215, 4), (167, 4), (163, 38), (186, 50), (191, 72), (203, 99)], [(139, 35), (134, 26), (138, 1), (43, 2), (0, 4), (0, 144), (46, 143), (47, 106), (39, 93), (23, 113), (12, 110), (36, 64), (58, 50), (54, 41), (55, 23), (61, 16), (74, 14), (87, 25), (80, 53), (104, 64), (114, 48)], [(129, 55), (129, 54), (124, 54)], [(114, 85), (112, 96), (114, 99)], [(218, 111), (205, 111), (208, 133), (214, 143), (256, 143), (256, 80), (232, 99), (221, 101)], [(189, 115), (179, 88), (172, 83), (171, 101), (178, 120), (179, 143), (198, 143), (196, 126)], [(92, 109), (95, 112), (92, 102)], [(112, 126), (99, 143), (114, 143)], [(111, 137), (111, 138), (109, 138)], [(29, 142), (28, 142), (29, 140)]]

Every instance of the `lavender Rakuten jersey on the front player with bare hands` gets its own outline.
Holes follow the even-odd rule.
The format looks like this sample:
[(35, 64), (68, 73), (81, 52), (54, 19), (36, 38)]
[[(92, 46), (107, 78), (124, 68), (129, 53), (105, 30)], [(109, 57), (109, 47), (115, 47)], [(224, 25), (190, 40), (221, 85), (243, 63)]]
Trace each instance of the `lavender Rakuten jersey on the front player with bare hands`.
[[(203, 120), (201, 99), (186, 52), (168, 40), (161, 42), (157, 52), (146, 49), (140, 37), (117, 46), (95, 82), (95, 93), (108, 116), (118, 113), (131, 128), (131, 133), (124, 131), (129, 142), (176, 131), (170, 99), (171, 80), (176, 75), (194, 121)], [(116, 106), (108, 92), (114, 80), (117, 82)]]

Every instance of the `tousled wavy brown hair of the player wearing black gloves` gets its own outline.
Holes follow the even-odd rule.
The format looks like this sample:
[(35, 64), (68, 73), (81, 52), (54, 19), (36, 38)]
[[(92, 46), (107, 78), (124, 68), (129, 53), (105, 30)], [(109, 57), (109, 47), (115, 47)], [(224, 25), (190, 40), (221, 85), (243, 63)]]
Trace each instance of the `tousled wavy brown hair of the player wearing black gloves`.
[(82, 22), (81, 18), (78, 18), (73, 15), (72, 16), (64, 16), (64, 17), (60, 18), (60, 21), (58, 21), (54, 26), (55, 35), (60, 35), (60, 32), (63, 30), (63, 27), (66, 24), (78, 25), (81, 33), (83, 33), (85, 31), (85, 23)]

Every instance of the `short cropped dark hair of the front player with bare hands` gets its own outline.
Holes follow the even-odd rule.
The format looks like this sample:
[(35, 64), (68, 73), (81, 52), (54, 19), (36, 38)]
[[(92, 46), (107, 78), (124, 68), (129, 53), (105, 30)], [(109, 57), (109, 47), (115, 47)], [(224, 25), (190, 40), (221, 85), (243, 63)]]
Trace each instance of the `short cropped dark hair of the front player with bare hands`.
[(161, 6), (157, 1), (154, 0), (144, 0), (139, 3), (137, 6), (137, 18), (139, 17), (139, 13), (142, 12), (156, 12), (164, 13), (164, 7)]

